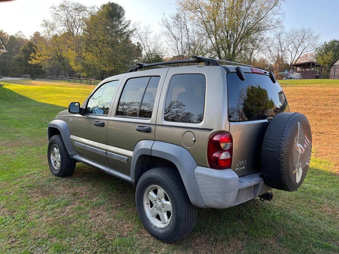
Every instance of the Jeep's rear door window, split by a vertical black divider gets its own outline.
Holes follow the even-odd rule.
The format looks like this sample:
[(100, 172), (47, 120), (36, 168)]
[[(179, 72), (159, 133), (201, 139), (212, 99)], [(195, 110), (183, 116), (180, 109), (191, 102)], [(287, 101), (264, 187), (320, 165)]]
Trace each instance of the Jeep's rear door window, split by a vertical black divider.
[(116, 115), (151, 118), (159, 81), (160, 77), (127, 80), (121, 93)]

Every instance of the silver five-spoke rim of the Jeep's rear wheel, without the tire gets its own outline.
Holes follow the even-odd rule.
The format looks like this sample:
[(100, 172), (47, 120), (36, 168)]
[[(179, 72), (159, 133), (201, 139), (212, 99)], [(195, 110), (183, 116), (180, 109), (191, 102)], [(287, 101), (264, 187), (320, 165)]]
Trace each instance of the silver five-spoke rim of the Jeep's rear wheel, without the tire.
[(149, 186), (144, 193), (147, 218), (157, 228), (165, 228), (172, 218), (172, 205), (166, 192), (158, 185)]

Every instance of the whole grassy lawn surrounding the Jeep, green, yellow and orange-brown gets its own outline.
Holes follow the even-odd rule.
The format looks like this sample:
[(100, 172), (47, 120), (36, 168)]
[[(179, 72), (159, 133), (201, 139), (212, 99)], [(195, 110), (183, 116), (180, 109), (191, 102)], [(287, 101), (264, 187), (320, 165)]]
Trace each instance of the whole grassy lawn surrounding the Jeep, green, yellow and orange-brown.
[(0, 84), (0, 253), (339, 253), (338, 81), (281, 82), (313, 130), (301, 188), (273, 190), (271, 202), (199, 209), (193, 232), (171, 245), (143, 228), (132, 185), (81, 163), (71, 177), (49, 171), (48, 122), (94, 86)]

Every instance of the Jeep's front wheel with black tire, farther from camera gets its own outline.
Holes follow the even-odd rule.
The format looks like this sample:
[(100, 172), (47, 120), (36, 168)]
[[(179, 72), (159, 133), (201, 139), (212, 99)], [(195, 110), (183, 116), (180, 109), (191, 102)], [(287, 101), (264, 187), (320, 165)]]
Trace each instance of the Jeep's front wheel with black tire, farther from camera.
[(49, 169), (55, 176), (66, 177), (73, 174), (76, 161), (69, 156), (61, 135), (54, 135), (49, 140), (47, 159)]

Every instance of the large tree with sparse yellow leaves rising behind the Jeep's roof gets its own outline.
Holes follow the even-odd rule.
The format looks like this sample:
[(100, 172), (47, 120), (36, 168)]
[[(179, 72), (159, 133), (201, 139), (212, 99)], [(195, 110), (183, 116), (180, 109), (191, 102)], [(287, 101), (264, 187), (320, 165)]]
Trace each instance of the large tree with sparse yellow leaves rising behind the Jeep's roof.
[(206, 34), (212, 56), (230, 61), (253, 57), (267, 31), (281, 23), (283, 0), (178, 0)]

